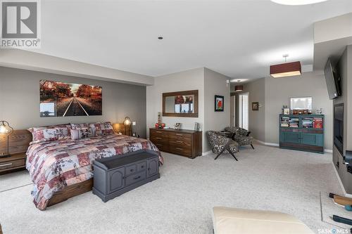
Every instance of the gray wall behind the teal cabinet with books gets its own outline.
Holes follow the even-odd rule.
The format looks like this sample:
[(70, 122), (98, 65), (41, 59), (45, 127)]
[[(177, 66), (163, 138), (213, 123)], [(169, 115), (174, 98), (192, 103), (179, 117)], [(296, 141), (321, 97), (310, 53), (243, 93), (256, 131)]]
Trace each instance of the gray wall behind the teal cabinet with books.
[(265, 78), (265, 142), (279, 143), (279, 114), (291, 97), (313, 97), (313, 112), (323, 108), (325, 149), (332, 150), (332, 100), (322, 72), (306, 72), (299, 77)]

